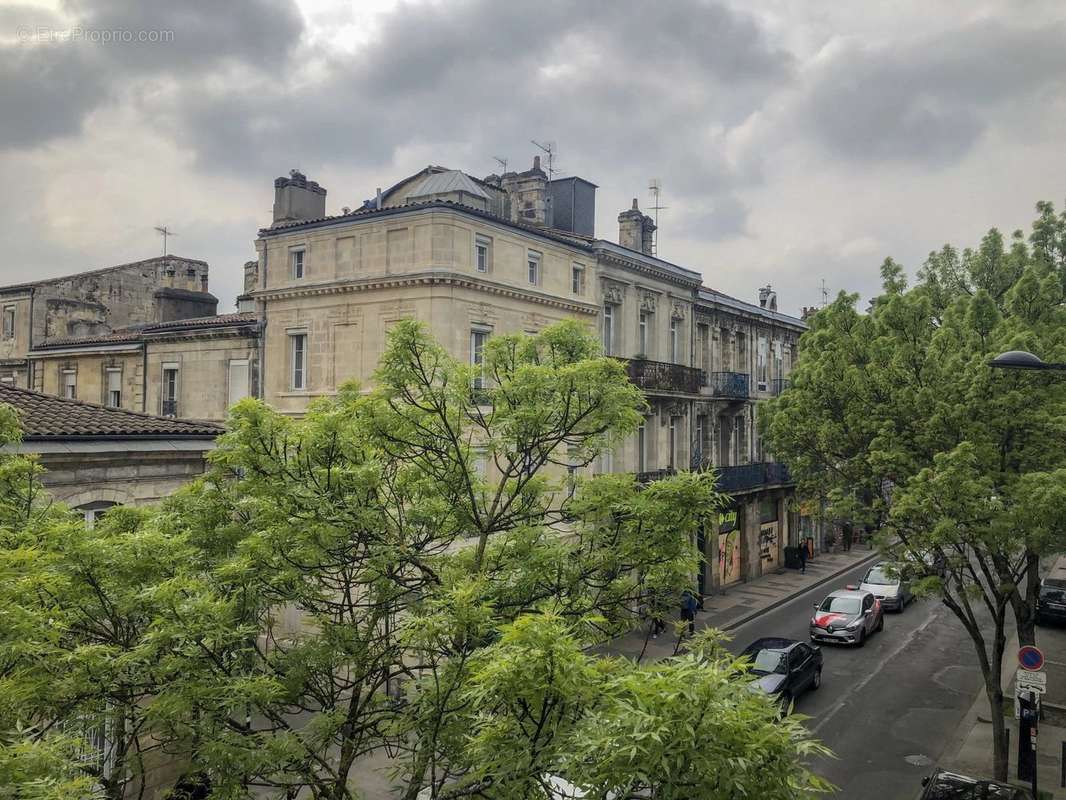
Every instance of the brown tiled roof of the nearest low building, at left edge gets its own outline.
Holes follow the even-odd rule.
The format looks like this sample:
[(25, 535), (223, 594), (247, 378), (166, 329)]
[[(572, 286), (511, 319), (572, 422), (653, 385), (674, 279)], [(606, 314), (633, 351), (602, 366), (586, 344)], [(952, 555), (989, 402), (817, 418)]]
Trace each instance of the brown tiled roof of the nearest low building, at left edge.
[(122, 409), (67, 400), (0, 384), (0, 402), (15, 406), (28, 442), (69, 438), (201, 438), (223, 428), (211, 422), (168, 419)]

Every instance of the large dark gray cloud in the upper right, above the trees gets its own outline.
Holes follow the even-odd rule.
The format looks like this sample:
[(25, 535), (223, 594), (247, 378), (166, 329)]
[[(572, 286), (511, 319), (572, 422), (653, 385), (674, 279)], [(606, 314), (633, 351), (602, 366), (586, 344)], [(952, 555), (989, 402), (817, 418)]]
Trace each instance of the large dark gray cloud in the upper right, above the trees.
[(904, 44), (838, 43), (797, 116), (834, 155), (954, 163), (1010, 106), (1066, 79), (1063, 23), (985, 20)]

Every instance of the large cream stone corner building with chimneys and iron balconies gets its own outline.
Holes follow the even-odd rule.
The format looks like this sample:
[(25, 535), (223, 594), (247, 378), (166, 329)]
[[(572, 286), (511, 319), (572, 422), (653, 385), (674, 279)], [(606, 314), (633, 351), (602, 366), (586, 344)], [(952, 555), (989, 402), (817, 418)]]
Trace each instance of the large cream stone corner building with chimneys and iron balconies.
[(368, 382), (387, 331), (405, 318), (473, 363), (494, 334), (581, 320), (627, 359), (649, 404), (637, 433), (596, 468), (642, 479), (718, 468), (733, 508), (700, 543), (700, 588), (777, 570), (784, 547), (815, 527), (763, 452), (755, 405), (787, 384), (806, 326), (777, 311), (770, 287), (746, 303), (657, 258), (655, 223), (636, 201), (618, 215), (617, 242), (596, 238), (596, 188), (550, 180), (538, 159), (485, 178), (429, 166), (327, 215), (325, 189), (296, 172), (278, 178), (255, 288), (246, 281), (264, 325), (262, 397), (300, 415), (342, 381)]

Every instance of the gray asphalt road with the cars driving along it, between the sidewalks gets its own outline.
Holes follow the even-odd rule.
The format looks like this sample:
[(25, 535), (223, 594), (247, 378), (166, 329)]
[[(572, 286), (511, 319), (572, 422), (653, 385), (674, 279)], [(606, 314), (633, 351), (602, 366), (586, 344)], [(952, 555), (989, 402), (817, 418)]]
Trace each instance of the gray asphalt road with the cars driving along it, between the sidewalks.
[[(730, 631), (739, 653), (755, 639), (807, 640), (813, 605), (857, 583), (867, 566), (800, 595)], [(821, 645), (822, 687), (805, 692), (795, 713), (836, 754), (812, 765), (839, 787), (841, 800), (915, 800), (982, 686), (973, 645), (962, 624), (935, 601), (888, 612), (866, 646)]]

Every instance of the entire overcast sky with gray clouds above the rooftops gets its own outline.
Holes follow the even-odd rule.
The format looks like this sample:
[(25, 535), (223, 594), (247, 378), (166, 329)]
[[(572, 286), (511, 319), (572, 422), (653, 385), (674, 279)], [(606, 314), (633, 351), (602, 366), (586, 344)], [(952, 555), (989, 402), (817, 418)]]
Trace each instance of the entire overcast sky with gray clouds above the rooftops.
[(599, 185), (598, 236), (658, 177), (662, 257), (795, 313), (1062, 204), (1064, 42), (1061, 0), (0, 2), (0, 282), (165, 223), (229, 310), (276, 176), (333, 213), (535, 139)]

